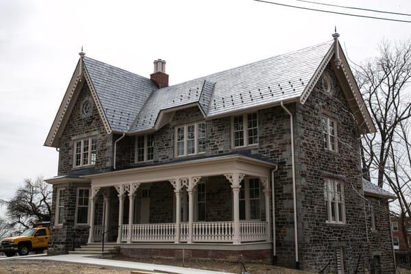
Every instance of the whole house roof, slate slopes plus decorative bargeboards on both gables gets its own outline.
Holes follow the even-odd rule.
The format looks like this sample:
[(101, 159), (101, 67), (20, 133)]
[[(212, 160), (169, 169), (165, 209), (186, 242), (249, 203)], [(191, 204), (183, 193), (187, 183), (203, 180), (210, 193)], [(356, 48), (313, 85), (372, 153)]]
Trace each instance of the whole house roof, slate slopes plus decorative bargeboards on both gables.
[[(171, 118), (171, 112), (193, 105), (197, 105), (203, 115), (211, 119), (243, 110), (265, 108), (282, 101), (304, 103), (332, 59), (334, 45), (334, 40), (330, 40), (160, 89), (151, 79), (84, 56), (77, 64), (45, 145), (57, 145), (55, 136), (58, 136), (59, 128), (64, 123), (55, 122), (64, 121), (63, 117), (69, 114), (66, 110), (70, 112), (74, 91), (82, 77), (97, 102), (108, 134), (137, 134), (160, 128), (166, 123), (165, 119)], [(342, 49), (340, 51), (343, 52)], [(356, 99), (350, 100), (353, 101), (350, 107), (364, 122), (365, 132), (373, 132), (375, 127), (371, 116), (342, 55), (339, 80), (347, 86), (345, 90), (349, 91), (346, 93), (351, 92)]]

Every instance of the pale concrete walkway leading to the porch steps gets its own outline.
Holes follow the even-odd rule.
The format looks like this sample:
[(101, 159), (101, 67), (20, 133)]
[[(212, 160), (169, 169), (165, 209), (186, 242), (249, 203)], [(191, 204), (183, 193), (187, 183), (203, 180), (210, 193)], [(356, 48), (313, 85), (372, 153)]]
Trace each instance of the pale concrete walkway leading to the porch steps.
[(127, 262), (121, 260), (106, 260), (90, 258), (89, 255), (58, 255), (58, 256), (39, 256), (39, 257), (14, 257), (17, 260), (51, 260), (55, 262), (73, 262), (77, 264), (92, 264), (96, 266), (108, 266), (118, 269), (143, 270), (143, 271), (163, 271), (178, 274), (228, 274), (218, 271), (208, 271), (201, 269), (188, 269), (179, 266), (166, 266), (162, 264), (145, 264), (142, 262)]

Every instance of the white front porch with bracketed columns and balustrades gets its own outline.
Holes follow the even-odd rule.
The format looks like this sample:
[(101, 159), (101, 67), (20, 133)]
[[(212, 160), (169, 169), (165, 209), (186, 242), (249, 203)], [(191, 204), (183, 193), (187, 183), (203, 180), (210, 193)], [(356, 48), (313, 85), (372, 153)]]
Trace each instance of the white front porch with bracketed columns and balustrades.
[(121, 184), (92, 178), (88, 242), (100, 242), (103, 234), (119, 244), (271, 242), (273, 164), (234, 155), (169, 165), (116, 171), (110, 182)]

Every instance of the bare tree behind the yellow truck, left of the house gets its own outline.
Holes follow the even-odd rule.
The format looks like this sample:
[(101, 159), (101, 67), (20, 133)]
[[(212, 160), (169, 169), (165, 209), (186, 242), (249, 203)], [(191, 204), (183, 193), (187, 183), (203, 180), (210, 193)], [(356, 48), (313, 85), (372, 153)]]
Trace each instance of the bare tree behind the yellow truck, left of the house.
[(12, 199), (0, 201), (6, 207), (8, 225), (28, 228), (36, 221), (50, 221), (52, 191), (43, 177), (25, 179)]

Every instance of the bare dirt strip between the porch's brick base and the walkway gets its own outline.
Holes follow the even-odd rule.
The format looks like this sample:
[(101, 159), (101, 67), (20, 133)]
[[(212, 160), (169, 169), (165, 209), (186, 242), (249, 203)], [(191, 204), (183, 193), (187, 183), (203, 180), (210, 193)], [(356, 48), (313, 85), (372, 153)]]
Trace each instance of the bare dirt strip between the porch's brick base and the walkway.
[[(165, 258), (129, 258), (125, 256), (116, 256), (110, 258), (112, 260), (126, 260), (132, 262), (145, 262), (147, 264), (166, 264), (172, 266), (183, 266), (182, 260), (171, 260)], [(184, 262), (184, 267), (192, 269), (206, 269), (212, 271), (223, 271), (228, 273), (241, 273), (241, 266), (236, 262), (219, 262), (208, 260), (190, 260)], [(306, 271), (297, 271), (294, 269), (284, 269), (278, 266), (270, 266), (267, 264), (246, 263), (247, 271), (252, 274), (312, 274)]]

